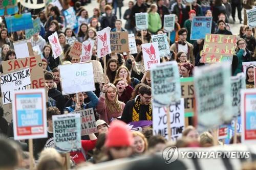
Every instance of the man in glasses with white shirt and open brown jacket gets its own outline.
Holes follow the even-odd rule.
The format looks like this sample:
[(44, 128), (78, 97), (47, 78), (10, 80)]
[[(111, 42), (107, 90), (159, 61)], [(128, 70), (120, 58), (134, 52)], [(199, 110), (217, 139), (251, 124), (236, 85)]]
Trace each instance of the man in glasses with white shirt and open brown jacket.
[(179, 41), (175, 41), (175, 43), (170, 46), (170, 50), (174, 51), (176, 54), (178, 52), (185, 52), (187, 55), (187, 60), (190, 61), (191, 64), (195, 65), (195, 56), (193, 54), (194, 46), (193, 44), (186, 41), (187, 39), (187, 30), (182, 28), (178, 31)]

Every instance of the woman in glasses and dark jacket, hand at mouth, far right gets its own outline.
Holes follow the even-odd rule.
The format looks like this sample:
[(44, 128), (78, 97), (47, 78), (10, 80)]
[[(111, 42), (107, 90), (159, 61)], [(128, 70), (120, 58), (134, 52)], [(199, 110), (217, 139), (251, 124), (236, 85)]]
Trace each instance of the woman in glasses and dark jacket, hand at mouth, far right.
[(242, 38), (237, 41), (236, 55), (238, 58), (238, 66), (234, 71), (233, 76), (236, 76), (239, 72), (243, 71), (243, 62), (253, 61), (251, 52), (246, 48), (246, 41)]

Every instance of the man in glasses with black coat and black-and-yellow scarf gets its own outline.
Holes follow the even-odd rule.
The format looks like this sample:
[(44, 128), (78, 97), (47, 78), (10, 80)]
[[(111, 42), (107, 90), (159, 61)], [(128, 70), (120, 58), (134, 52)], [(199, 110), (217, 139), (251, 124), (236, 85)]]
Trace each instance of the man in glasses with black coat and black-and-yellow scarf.
[(141, 85), (139, 95), (126, 103), (121, 120), (125, 123), (152, 120), (151, 87)]

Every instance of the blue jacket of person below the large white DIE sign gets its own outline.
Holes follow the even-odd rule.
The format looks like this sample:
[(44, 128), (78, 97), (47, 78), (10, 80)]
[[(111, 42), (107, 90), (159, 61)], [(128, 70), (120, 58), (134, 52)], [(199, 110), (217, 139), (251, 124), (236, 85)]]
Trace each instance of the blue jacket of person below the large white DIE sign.
[[(96, 106), (98, 105), (99, 99), (97, 98), (96, 94), (94, 94), (94, 92), (92, 92), (92, 91), (88, 91), (88, 92), (86, 92), (86, 94), (88, 95), (88, 98), (90, 99), (91, 102), (89, 102), (89, 103), (83, 103), (83, 104), (81, 105), (81, 109), (88, 109), (88, 108), (93, 108), (93, 109), (95, 109)], [(72, 105), (72, 106), (69, 106), (69, 107), (64, 108), (63, 111), (64, 111), (64, 112), (65, 112), (65, 111), (68, 111), (69, 113), (70, 113), (70, 112), (74, 112), (75, 107), (76, 107), (76, 105), (74, 104), (74, 105)]]

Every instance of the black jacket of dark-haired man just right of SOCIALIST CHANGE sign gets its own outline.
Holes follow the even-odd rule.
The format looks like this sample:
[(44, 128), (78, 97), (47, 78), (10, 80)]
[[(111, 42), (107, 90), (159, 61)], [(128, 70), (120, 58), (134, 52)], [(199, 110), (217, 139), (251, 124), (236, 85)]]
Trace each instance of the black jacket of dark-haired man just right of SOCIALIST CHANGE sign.
[(56, 107), (60, 110), (61, 113), (63, 113), (63, 109), (66, 103), (66, 100), (62, 93), (57, 90), (56, 88), (49, 89), (48, 96), (50, 96), (52, 99), (56, 101)]

